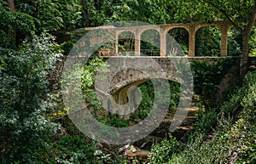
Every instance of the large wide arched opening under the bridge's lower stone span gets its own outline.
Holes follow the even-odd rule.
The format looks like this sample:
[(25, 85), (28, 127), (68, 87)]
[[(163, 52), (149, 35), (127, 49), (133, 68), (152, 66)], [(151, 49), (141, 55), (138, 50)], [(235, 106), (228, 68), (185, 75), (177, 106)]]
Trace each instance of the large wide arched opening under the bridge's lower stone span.
[[(160, 78), (138, 80), (127, 84), (113, 94), (114, 99), (125, 99), (123, 102), (135, 107), (134, 109), (130, 108), (131, 112), (129, 116), (126, 116), (130, 119), (131, 124), (142, 122), (151, 110), (158, 107), (154, 106), (154, 101), (155, 97), (157, 97), (158, 101), (160, 100), (159, 95), (162, 91), (155, 90), (154, 83), (152, 81), (158, 81), (160, 84), (162, 80), (163, 79)], [(171, 97), (166, 99), (166, 97), (163, 96), (160, 101), (166, 101), (165, 103), (169, 104), (167, 112), (171, 115), (173, 111), (177, 110), (177, 105), (180, 100), (180, 83), (172, 80), (168, 80), (168, 82)], [(167, 87), (165, 86), (165, 83), (162, 83), (161, 85), (163, 85), (162, 88)], [(135, 89), (133, 88), (134, 86), (136, 86)], [(116, 100), (116, 103), (118, 103), (118, 100)]]

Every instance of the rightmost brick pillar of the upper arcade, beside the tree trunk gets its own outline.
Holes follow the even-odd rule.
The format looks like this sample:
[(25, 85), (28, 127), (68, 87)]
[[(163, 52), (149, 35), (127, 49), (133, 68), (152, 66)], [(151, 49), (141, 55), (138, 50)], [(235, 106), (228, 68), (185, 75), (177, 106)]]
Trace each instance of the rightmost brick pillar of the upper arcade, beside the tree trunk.
[(220, 29), (221, 31), (221, 45), (220, 45), (220, 56), (226, 57), (228, 55), (228, 31), (230, 27), (224, 26)]

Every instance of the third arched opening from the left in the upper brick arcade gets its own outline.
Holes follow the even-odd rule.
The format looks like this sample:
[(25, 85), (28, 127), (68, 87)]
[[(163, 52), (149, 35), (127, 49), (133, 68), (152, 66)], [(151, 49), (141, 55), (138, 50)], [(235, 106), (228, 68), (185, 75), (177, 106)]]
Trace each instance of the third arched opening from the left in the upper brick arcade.
[[(189, 55), (189, 32), (182, 27), (178, 27), (168, 31), (168, 34), (170, 37), (166, 39), (166, 54), (170, 56)], [(178, 45), (175, 45), (173, 39)], [(182, 48), (183, 54), (177, 53), (178, 47)]]

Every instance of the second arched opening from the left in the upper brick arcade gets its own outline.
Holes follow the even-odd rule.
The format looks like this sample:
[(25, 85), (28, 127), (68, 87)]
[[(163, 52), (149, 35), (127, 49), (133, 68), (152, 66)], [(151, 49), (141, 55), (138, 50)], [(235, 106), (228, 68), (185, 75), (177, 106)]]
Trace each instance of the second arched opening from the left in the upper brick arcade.
[(160, 33), (156, 30), (143, 31), (141, 36), (141, 56), (160, 56)]

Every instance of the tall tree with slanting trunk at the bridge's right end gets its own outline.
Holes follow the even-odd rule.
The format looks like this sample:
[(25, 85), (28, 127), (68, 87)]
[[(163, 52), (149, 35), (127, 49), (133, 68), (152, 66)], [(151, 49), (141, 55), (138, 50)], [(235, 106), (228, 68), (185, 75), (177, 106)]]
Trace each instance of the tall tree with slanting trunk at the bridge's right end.
[(212, 6), (218, 14), (241, 32), (241, 63), (240, 74), (244, 76), (248, 70), (248, 54), (250, 34), (256, 19), (256, 0), (201, 0), (205, 5)]

